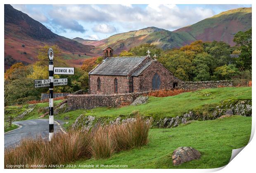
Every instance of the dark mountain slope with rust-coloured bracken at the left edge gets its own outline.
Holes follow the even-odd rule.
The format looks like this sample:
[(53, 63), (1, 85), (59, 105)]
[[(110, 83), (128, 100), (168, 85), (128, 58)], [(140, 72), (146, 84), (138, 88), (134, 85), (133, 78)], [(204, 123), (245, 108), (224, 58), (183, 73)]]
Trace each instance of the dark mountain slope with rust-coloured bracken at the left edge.
[[(88, 58), (87, 56), (78, 57), (78, 54), (95, 55), (90, 52), (93, 46), (52, 33), (42, 23), (27, 14), (14, 9), (11, 5), (5, 5), (5, 70), (16, 62), (25, 64), (35, 62), (37, 50), (46, 44), (57, 44), (63, 56), (66, 56), (67, 62), (74, 66), (81, 65), (83, 58)], [(74, 57), (72, 53), (76, 56)]]

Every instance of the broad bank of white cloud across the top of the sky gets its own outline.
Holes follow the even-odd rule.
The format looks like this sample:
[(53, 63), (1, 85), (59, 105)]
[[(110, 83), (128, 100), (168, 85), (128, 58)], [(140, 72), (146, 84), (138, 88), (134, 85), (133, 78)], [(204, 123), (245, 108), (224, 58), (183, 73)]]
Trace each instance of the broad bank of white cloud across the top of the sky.
[[(52, 18), (74, 19), (100, 23), (92, 30), (114, 33), (111, 23), (118, 22), (123, 28), (140, 29), (156, 26), (167, 30), (178, 29), (214, 15), (210, 8), (183, 7), (177, 5), (147, 5), (145, 8), (130, 5), (54, 5)], [(132, 26), (130, 26), (132, 25)]]

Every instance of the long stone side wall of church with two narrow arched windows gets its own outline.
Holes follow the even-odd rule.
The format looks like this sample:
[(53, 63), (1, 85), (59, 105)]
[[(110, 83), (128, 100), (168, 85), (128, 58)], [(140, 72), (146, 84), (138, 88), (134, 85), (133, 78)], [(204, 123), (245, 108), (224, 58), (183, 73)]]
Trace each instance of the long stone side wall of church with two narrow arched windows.
[[(97, 91), (97, 79), (100, 77), (100, 91)], [(90, 94), (115, 94), (114, 79), (117, 79), (118, 93), (128, 93), (127, 76), (90, 75)]]

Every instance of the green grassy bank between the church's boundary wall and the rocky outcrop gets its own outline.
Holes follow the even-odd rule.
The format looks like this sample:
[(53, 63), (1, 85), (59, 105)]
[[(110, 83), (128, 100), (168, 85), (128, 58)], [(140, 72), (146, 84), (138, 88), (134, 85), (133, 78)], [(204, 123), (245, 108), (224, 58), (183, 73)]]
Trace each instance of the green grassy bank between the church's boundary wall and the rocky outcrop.
[(130, 105), (123, 108), (100, 107), (87, 110), (85, 114), (98, 117), (118, 117), (138, 111), (151, 117), (176, 117), (193, 108), (206, 104), (217, 104), (226, 99), (251, 99), (251, 87), (202, 89), (164, 98), (150, 97), (146, 104)]

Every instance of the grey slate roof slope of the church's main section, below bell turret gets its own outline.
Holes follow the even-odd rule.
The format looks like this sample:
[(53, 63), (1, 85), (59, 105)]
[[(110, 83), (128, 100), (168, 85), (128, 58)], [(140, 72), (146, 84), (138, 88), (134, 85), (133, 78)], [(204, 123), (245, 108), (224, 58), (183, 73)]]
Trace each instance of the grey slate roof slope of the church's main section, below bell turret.
[[(127, 76), (133, 69), (140, 65), (147, 56), (122, 56), (122, 57), (108, 57), (100, 65), (89, 72), (89, 75), (115, 75)], [(143, 67), (150, 64), (145, 63), (139, 69), (143, 71)], [(145, 69), (144, 69), (145, 70)], [(134, 72), (136, 75), (136, 72)]]

